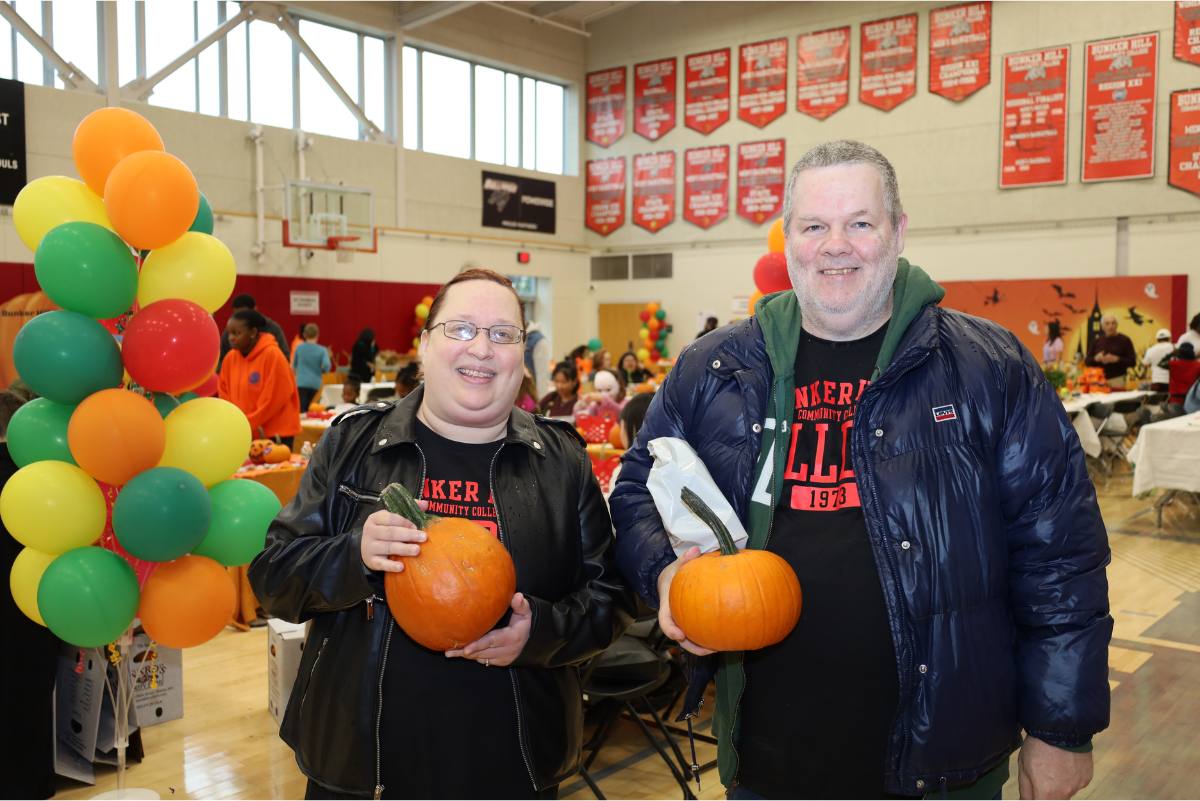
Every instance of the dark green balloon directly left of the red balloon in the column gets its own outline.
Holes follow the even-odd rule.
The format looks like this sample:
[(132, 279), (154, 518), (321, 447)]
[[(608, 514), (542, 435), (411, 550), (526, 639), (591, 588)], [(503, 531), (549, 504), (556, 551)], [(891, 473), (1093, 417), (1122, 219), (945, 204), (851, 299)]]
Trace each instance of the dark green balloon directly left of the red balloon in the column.
[(74, 405), (121, 385), (121, 351), (104, 326), (78, 312), (46, 312), (22, 326), (12, 360), (23, 381), (55, 403)]

